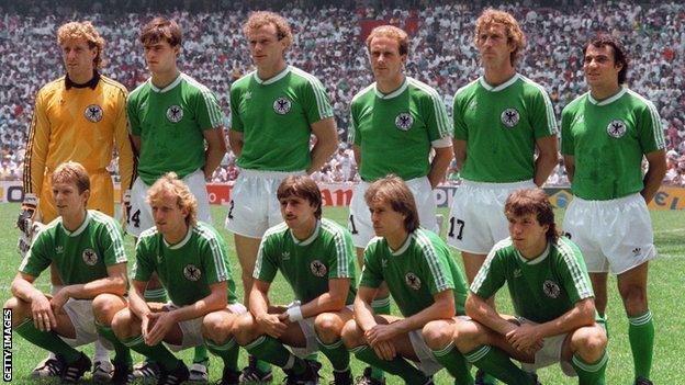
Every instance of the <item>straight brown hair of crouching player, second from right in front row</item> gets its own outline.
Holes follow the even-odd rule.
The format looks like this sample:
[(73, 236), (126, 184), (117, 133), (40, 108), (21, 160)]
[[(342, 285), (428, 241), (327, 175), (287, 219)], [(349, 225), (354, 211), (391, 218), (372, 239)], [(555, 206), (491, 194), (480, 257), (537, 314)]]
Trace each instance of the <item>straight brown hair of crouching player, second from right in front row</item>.
[(419, 226), (418, 211), (414, 194), (400, 177), (390, 174), (371, 183), (364, 193), (364, 201), (371, 206), (373, 202), (386, 202), (393, 211), (403, 214), (404, 229), (414, 231)]

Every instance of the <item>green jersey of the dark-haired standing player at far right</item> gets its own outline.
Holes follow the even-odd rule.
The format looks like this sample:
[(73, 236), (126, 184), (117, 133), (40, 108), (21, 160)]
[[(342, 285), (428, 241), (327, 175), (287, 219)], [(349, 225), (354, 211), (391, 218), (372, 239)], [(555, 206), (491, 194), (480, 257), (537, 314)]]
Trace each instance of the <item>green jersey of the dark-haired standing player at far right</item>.
[(589, 92), (561, 113), (561, 152), (573, 156), (573, 194), (605, 201), (640, 192), (642, 156), (665, 147), (659, 112), (622, 88), (603, 101)]

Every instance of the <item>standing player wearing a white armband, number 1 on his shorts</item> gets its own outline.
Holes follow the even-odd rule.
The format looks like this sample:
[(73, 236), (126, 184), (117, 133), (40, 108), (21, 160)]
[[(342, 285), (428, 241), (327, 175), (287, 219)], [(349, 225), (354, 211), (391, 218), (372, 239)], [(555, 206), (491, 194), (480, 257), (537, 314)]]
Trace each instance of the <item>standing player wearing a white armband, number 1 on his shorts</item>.
[[(374, 236), (364, 201), (369, 184), (390, 173), (402, 178), (414, 194), (422, 227), (437, 231), (433, 189), (445, 178), (452, 159), (451, 126), (440, 95), (405, 75), (407, 34), (392, 25), (378, 26), (367, 37), (367, 48), (375, 82), (352, 99), (348, 137), (362, 180), (355, 186), (349, 215), (360, 265), (363, 249)], [(385, 285), (377, 296), (374, 310), (390, 314)], [(383, 381), (382, 372), (372, 367), (363, 377), (368, 384)]]

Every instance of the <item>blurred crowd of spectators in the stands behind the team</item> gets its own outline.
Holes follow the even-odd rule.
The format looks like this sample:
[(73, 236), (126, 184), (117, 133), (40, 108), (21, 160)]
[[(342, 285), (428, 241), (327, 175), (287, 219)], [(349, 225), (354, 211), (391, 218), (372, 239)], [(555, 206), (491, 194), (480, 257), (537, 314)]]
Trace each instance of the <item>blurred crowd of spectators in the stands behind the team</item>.
[[(295, 35), (288, 61), (322, 80), (341, 140), (333, 159), (314, 177), (323, 182), (353, 182), (357, 165), (345, 144), (349, 104), (372, 82), (362, 26), (391, 23), (408, 30), (407, 73), (435, 87), (451, 114), (454, 92), (481, 75), (472, 39), (483, 7), (481, 1), (2, 1), (0, 180), (21, 179), (35, 93), (64, 75), (55, 34), (65, 22), (91, 20), (106, 42), (102, 72), (133, 90), (148, 77), (137, 41), (141, 26), (159, 14), (175, 19), (183, 29), (181, 70), (215, 92), (227, 118), (232, 82), (254, 69), (242, 24), (251, 10), (280, 12)], [(584, 42), (599, 31), (619, 36), (631, 53), (628, 87), (651, 100), (661, 114), (669, 163), (664, 183), (685, 186), (685, 4), (577, 0), (494, 7), (512, 12), (521, 23), (528, 47), (518, 71), (547, 89), (558, 120), (570, 101), (586, 92)], [(115, 162), (111, 172), (116, 178)], [(238, 172), (229, 152), (214, 181), (229, 182)], [(458, 182), (452, 163), (446, 183)], [(548, 184), (568, 183), (560, 162)]]

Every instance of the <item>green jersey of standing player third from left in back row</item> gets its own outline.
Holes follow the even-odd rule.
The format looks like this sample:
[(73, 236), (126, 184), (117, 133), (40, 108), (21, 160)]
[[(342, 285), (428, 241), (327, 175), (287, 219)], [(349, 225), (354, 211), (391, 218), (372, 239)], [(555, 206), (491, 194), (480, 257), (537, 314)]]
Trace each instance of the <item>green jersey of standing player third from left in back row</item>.
[(329, 117), (324, 86), (292, 66), (267, 80), (252, 71), (231, 86), (231, 129), (243, 133), (243, 169), (306, 170), (312, 124)]

